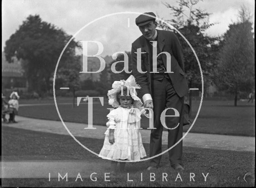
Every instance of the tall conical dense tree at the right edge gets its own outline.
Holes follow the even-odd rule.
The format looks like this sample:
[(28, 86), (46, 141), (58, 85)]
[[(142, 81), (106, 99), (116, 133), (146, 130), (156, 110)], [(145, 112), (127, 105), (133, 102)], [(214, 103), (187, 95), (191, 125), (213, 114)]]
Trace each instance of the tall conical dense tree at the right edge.
[(234, 94), (234, 106), (237, 106), (238, 93), (252, 92), (255, 84), (254, 33), (250, 18), (250, 13), (242, 7), (238, 21), (230, 24), (224, 34), (219, 54), (215, 82), (220, 89)]

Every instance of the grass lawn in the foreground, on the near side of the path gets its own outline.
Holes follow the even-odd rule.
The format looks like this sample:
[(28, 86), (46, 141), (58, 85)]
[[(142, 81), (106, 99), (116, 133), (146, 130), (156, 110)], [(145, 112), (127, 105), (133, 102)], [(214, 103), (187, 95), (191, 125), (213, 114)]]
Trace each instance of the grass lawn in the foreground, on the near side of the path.
[[(90, 146), (94, 152), (99, 152), (103, 140), (92, 138), (78, 138), (82, 143)], [(148, 154), (149, 144), (144, 144)], [(166, 146), (164, 146), (166, 147)], [(185, 171), (180, 173), (180, 178), (175, 181), (178, 172), (170, 168), (168, 154), (164, 154), (161, 159), (160, 168), (154, 171), (156, 180), (150, 182), (150, 174), (145, 170), (148, 165), (146, 162), (128, 163), (127, 172), (134, 182), (127, 182), (127, 172), (110, 176), (111, 182), (105, 182), (99, 164), (108, 164), (109, 161), (102, 160), (79, 146), (70, 136), (35, 132), (18, 128), (2, 126), (2, 158), (4, 160), (16, 158), (16, 160), (33, 161), (36, 159), (47, 160), (66, 160), (76, 162), (76, 160), (86, 160), (94, 165), (98, 172), (97, 182), (92, 182), (90, 178), (83, 178), (83, 182), (75, 178), (68, 178), (68, 181), (55, 178), (49, 182), (48, 178), (17, 178), (2, 179), (4, 187), (112, 187), (112, 186), (144, 186), (144, 187), (252, 187), (254, 186), (254, 175), (247, 176), (245, 182), (244, 174), (250, 172), (254, 174), (254, 152), (237, 152), (228, 150), (212, 150), (202, 148), (183, 148), (183, 164)], [(40, 170), (40, 169), (38, 169)], [(74, 169), (73, 169), (74, 170)], [(26, 173), (26, 169), (24, 169)], [(143, 181), (140, 181), (143, 173)], [(168, 182), (162, 181), (162, 173), (168, 174)], [(195, 182), (190, 182), (190, 173), (194, 173)], [(202, 173), (208, 174), (207, 181), (204, 181)], [(240, 177), (240, 179), (238, 178)]]

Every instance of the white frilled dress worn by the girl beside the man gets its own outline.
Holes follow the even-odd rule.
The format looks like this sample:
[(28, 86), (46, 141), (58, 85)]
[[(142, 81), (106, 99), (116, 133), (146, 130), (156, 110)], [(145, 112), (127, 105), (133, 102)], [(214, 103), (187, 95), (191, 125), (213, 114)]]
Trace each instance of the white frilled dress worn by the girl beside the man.
[[(104, 159), (140, 160), (146, 156), (138, 123), (140, 113), (133, 108), (118, 107), (108, 115), (104, 145), (99, 156)], [(114, 129), (114, 144), (110, 144), (109, 129)]]

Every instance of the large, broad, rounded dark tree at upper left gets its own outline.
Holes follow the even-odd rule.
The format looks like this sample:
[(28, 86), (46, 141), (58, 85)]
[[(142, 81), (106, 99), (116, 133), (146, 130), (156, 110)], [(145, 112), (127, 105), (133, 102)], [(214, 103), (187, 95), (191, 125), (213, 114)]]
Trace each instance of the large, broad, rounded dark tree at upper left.
[[(6, 60), (12, 62), (13, 56), (22, 59), (28, 90), (42, 95), (50, 90), (56, 62), (71, 37), (62, 29), (42, 21), (39, 15), (30, 15), (6, 41)], [(72, 40), (62, 59), (74, 56), (76, 47), (79, 47), (78, 43)]]

